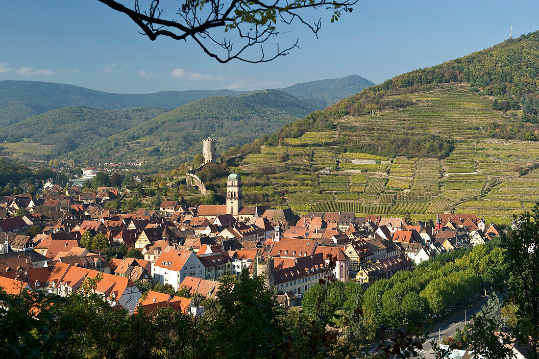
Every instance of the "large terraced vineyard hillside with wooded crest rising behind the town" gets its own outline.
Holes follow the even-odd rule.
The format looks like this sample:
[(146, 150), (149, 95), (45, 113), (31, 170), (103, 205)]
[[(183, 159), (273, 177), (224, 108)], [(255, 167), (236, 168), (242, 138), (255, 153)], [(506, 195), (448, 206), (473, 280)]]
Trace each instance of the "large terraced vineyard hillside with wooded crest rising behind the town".
[[(238, 170), (255, 174), (245, 177), (247, 202), (277, 204), (285, 195), (299, 212), (421, 219), (453, 209), (508, 222), (508, 214), (531, 208), (538, 198), (539, 171), (522, 177), (519, 170), (539, 162), (539, 143), (521, 140), (530, 133), (537, 136), (539, 129), (520, 123), (520, 111), (494, 111), (493, 97), (482, 95), (518, 99), (537, 91), (537, 38), (538, 32), (397, 76), (285, 126), (260, 153), (231, 160), (231, 166), (235, 161)], [(482, 92), (472, 91), (468, 81), (482, 82)], [(364, 111), (369, 103), (378, 105), (376, 113)], [(387, 148), (394, 150), (399, 136), (425, 133), (452, 141), (454, 150), (442, 159), (387, 158), (395, 153)], [(342, 153), (346, 148), (353, 152)], [(331, 174), (319, 172), (324, 168)]]

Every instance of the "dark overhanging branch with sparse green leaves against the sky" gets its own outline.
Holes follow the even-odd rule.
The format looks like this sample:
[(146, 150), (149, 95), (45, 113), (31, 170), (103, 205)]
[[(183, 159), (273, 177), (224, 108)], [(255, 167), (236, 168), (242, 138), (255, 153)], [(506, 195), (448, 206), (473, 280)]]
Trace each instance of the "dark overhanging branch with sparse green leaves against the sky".
[[(177, 20), (162, 18), (167, 11), (161, 7), (160, 0), (148, 0), (147, 10), (141, 10), (139, 0), (135, 0), (133, 9), (114, 0), (98, 1), (125, 13), (140, 27), (140, 33), (150, 40), (158, 36), (185, 41), (192, 39), (207, 55), (220, 63), (237, 59), (255, 64), (286, 56), (289, 51), (299, 47), (298, 39), (284, 50), (277, 43), (273, 54), (266, 56), (264, 46), (267, 46), (269, 39), (290, 30), (279, 31), (278, 23), (279, 29), (294, 22), (300, 23), (318, 37), (321, 18), (314, 22), (308, 21), (303, 17), (305, 14), (302, 14), (302, 10), (333, 10), (331, 22), (334, 22), (341, 16), (341, 12), (351, 12), (358, 0), (228, 0), (226, 3), (223, 0), (182, 0), (179, 9), (170, 12), (179, 16)], [(223, 33), (231, 35), (223, 40), (215, 40), (222, 37)], [(236, 48), (234, 43), (239, 46)], [(258, 57), (247, 52), (257, 48), (260, 48)]]

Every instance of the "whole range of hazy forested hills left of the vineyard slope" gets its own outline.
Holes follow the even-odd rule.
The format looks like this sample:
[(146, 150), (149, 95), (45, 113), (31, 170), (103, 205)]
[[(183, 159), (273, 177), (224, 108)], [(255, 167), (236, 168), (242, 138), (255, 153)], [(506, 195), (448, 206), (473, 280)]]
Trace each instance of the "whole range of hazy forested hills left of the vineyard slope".
[[(205, 137), (216, 139), (218, 151), (243, 145), (372, 84), (353, 75), (281, 90), (121, 94), (5, 80), (0, 82), (0, 141), (54, 146), (50, 157), (83, 162), (141, 160), (148, 153), (181, 161), (200, 151)], [(24, 157), (32, 157), (27, 147)]]

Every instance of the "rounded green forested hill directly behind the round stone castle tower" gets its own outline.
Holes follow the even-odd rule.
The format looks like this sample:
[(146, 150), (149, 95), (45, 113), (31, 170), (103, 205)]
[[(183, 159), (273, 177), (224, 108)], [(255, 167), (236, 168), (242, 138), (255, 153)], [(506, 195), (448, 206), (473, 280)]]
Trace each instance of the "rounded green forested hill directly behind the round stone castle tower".
[(209, 97), (89, 143), (66, 158), (78, 163), (145, 160), (158, 168), (170, 168), (201, 152), (202, 140), (210, 135), (220, 153), (273, 133), (313, 110), (314, 105), (279, 90)]

